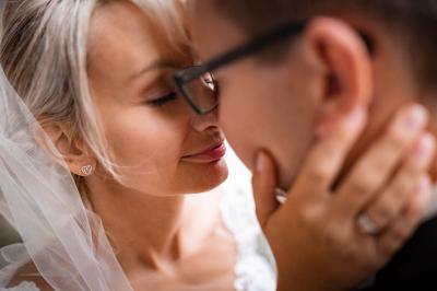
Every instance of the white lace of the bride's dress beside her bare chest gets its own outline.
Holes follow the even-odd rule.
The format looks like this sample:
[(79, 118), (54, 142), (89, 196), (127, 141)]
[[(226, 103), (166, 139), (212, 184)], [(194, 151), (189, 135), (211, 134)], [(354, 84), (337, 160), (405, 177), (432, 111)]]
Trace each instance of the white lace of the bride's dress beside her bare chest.
[(234, 173), (223, 186), (221, 210), (223, 222), (238, 244), (235, 290), (273, 291), (276, 289), (275, 263), (256, 217), (250, 174), (235, 161), (229, 168)]

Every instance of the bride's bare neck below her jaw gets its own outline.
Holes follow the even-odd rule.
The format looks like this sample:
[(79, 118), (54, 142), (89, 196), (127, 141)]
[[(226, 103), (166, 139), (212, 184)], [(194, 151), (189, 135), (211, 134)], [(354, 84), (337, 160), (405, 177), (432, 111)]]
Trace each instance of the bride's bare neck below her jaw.
[(184, 196), (157, 197), (108, 184), (90, 188), (94, 211), (123, 268), (143, 264), (160, 269), (180, 256)]

